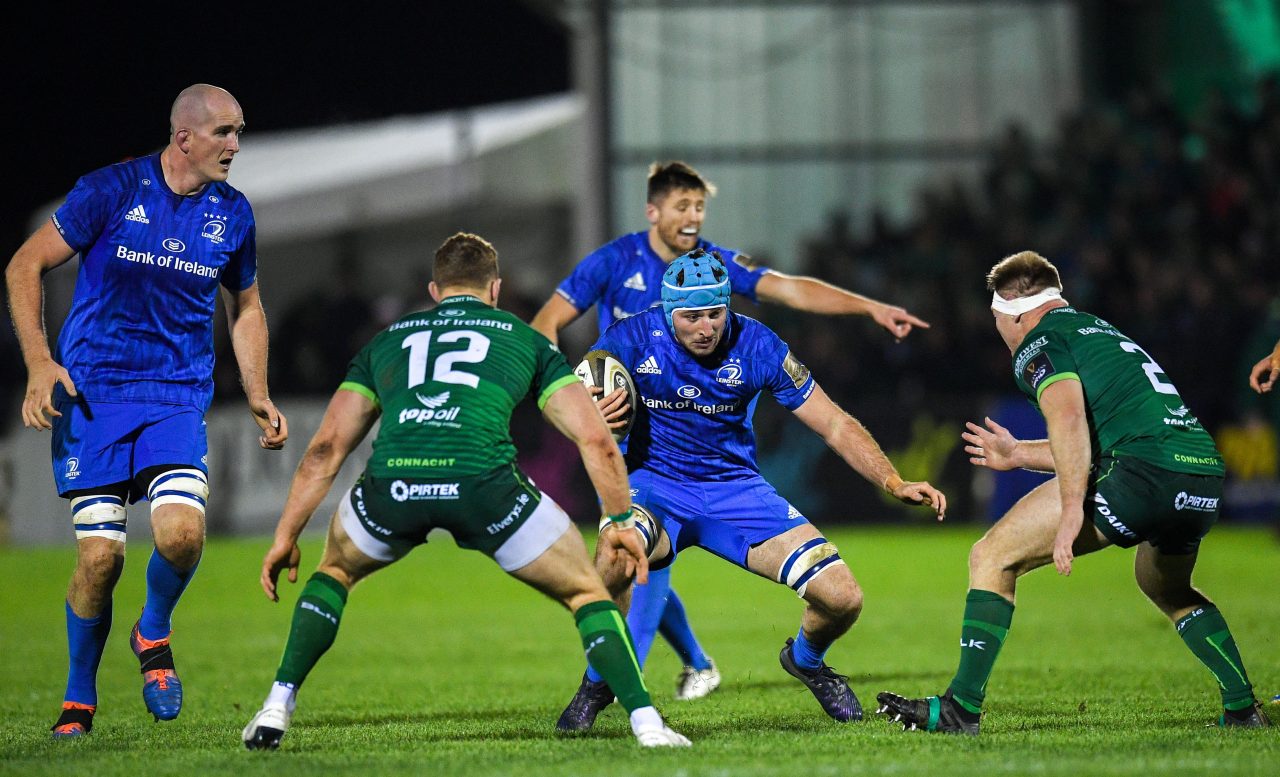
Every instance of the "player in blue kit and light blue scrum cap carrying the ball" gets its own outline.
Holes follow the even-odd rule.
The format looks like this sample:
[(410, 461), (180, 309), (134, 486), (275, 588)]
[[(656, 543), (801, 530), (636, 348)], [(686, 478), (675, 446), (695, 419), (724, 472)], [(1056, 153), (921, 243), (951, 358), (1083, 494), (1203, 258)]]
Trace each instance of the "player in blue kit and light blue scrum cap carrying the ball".
[[(714, 253), (695, 250), (676, 259), (660, 283), (660, 307), (614, 324), (594, 346), (627, 367), (645, 406), (626, 460), (632, 501), (662, 525), (650, 568), (669, 567), (681, 550), (699, 547), (792, 588), (808, 607), (782, 648), (782, 667), (832, 718), (860, 719), (846, 677), (823, 657), (858, 618), (863, 594), (836, 547), (760, 476), (755, 402), (763, 392), (773, 394), (854, 471), (902, 502), (929, 506), (941, 520), (946, 497), (928, 483), (905, 481), (778, 335), (728, 310), (730, 273)], [(599, 548), (598, 568), (623, 605), (625, 567), (608, 543)], [(557, 728), (590, 728), (612, 700), (607, 684), (585, 676)]]

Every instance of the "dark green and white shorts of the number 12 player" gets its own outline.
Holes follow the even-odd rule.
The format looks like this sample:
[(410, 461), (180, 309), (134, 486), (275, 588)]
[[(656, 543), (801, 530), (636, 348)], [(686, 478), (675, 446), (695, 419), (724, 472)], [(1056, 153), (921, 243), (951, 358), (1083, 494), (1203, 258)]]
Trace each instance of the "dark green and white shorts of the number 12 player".
[(571, 522), (515, 463), (466, 477), (361, 475), (338, 503), (338, 518), (365, 556), (396, 561), (433, 529), (480, 550), (511, 572), (534, 561)]

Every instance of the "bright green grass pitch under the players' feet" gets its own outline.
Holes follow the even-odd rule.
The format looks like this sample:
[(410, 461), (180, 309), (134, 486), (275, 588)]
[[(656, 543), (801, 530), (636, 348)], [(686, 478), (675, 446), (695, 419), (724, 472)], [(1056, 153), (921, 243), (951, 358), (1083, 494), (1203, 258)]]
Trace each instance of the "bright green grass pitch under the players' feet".
[[(977, 526), (841, 530), (867, 593), (828, 661), (868, 712), (876, 693), (941, 691), (957, 655), (965, 558)], [(266, 602), (266, 540), (214, 540), (175, 618), (182, 717), (145, 713), (128, 631), (148, 548), (137, 543), (115, 597), (100, 713), (82, 741), (49, 737), (65, 672), (63, 597), (70, 548), (0, 549), (0, 774), (1275, 774), (1280, 727), (1220, 731), (1210, 675), (1132, 580), (1133, 553), (1079, 559), (1023, 580), (992, 677), (983, 735), (904, 733), (883, 718), (829, 721), (778, 667), (800, 602), (787, 589), (689, 552), (673, 580), (724, 676), (672, 700), (678, 662), (659, 643), (649, 686), (684, 751), (643, 751), (614, 705), (589, 736), (553, 732), (577, 686), (570, 616), (443, 539), (353, 591), (338, 641), (307, 681), (278, 753), (247, 753), (239, 730), (275, 669), (300, 586)], [(303, 543), (303, 577), (320, 539)], [(1197, 584), (1230, 622), (1260, 698), (1280, 690), (1280, 544), (1219, 529)], [(1280, 713), (1280, 708), (1270, 708)], [(1274, 714), (1280, 722), (1280, 714)]]

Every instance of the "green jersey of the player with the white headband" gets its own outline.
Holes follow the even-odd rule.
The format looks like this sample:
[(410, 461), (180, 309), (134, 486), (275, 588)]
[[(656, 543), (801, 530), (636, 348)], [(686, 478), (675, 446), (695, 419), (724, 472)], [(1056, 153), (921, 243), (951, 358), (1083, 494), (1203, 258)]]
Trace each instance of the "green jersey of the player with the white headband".
[(1213, 438), (1160, 365), (1102, 319), (1074, 307), (1048, 311), (1014, 353), (1014, 379), (1037, 408), (1046, 387), (1080, 381), (1094, 462), (1129, 456), (1174, 472), (1225, 472)]

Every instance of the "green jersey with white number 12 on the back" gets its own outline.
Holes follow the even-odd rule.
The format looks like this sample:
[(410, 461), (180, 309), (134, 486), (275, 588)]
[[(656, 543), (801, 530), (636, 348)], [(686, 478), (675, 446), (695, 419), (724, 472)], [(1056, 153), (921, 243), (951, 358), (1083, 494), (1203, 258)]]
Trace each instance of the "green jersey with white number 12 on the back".
[(575, 380), (556, 346), (527, 324), (456, 296), (378, 333), (338, 388), (381, 407), (370, 475), (451, 477), (513, 461), (516, 405), (531, 396), (540, 408)]

